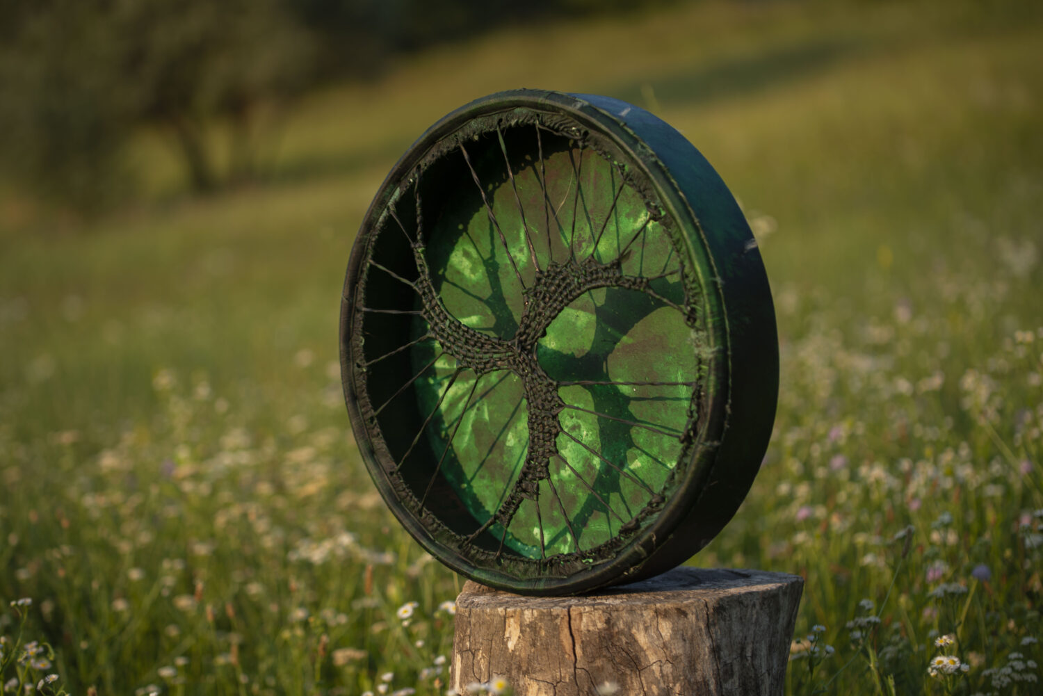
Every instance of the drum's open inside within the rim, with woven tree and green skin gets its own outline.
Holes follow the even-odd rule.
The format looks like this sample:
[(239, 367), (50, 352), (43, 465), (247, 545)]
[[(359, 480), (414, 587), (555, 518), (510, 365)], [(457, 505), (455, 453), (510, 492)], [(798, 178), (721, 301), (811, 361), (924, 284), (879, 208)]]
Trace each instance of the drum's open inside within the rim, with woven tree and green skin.
[(363, 258), (370, 428), (404, 504), (463, 556), (589, 563), (661, 507), (690, 443), (698, 288), (600, 145), (538, 118), (443, 143)]

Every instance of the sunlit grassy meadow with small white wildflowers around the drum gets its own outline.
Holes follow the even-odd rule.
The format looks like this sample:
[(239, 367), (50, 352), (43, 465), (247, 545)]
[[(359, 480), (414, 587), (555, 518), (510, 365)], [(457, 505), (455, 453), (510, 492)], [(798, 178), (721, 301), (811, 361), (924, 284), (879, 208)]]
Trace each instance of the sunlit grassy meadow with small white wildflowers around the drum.
[(512, 29), (309, 96), (263, 185), (188, 197), (143, 133), (124, 210), (0, 197), (0, 688), (445, 693), (462, 579), (364, 471), (339, 293), (413, 139), (532, 87), (661, 116), (759, 238), (775, 432), (690, 562), (804, 576), (789, 692), (1043, 693), (1041, 20), (706, 2)]

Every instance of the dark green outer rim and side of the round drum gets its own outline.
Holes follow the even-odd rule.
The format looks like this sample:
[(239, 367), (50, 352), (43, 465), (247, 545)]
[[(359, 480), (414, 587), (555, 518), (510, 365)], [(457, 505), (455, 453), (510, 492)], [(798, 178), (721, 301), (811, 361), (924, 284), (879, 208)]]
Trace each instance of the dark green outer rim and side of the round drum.
[[(504, 569), (490, 561), (490, 552), (468, 548), (461, 553), (446, 544), (452, 530), (439, 521), (437, 505), (417, 509), (415, 500), (404, 499), (405, 484), (396, 478), (386, 441), (399, 435), (384, 433), (372, 417), (363, 349), (367, 320), (360, 288), (366, 278), (363, 266), (368, 268), (372, 260), (381, 225), (389, 223), (387, 209), (398, 205), (418, 165), (437, 161), (454, 139), (471, 137), (470, 130), (487, 131), (492, 122), (508, 127), (516, 120), (532, 119), (559, 130), (576, 128), (584, 145), (611, 150), (650, 188), (680, 232), (675, 242), (682, 241), (678, 250), (686, 256), (682, 264), (701, 292), (701, 326), (709, 356), (700, 363), (705, 365), (700, 402), (704, 412), (693, 441), (683, 450), (685, 461), (678, 467), (683, 476), (673, 484), (672, 495), (636, 530), (625, 538), (621, 533), (621, 543), (605, 545), (600, 555), (583, 563), (569, 561), (566, 573), (561, 568), (542, 572), (545, 565), (534, 560)], [(342, 381), (367, 470), (417, 542), (477, 581), (522, 594), (567, 595), (660, 573), (713, 538), (738, 508), (759, 469), (778, 391), (775, 316), (759, 250), (734, 198), (705, 159), (674, 128), (636, 106), (607, 97), (518, 90), (490, 95), (447, 115), (413, 144), (382, 185), (359, 231), (342, 297)]]

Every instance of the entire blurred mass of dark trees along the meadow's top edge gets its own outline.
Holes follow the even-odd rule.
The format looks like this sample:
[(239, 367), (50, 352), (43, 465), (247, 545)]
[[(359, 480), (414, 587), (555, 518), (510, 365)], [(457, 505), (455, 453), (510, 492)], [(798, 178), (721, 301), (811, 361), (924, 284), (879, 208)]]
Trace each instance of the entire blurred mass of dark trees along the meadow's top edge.
[(506, 22), (632, 5), (11, 0), (0, 4), (0, 147), (23, 186), (95, 211), (126, 196), (124, 145), (154, 125), (205, 192), (262, 173), (262, 144), (307, 88), (372, 78), (389, 56)]

